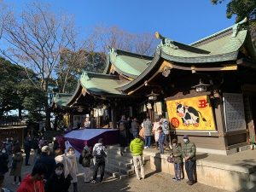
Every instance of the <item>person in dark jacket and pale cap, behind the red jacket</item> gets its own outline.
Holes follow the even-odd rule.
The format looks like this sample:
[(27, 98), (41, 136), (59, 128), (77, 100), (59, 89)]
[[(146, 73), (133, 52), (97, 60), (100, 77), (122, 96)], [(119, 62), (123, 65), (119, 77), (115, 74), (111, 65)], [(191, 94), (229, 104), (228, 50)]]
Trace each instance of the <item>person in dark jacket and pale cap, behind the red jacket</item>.
[(47, 167), (47, 172), (44, 175), (44, 179), (48, 179), (49, 176), (55, 172), (55, 158), (52, 157), (50, 154), (50, 149), (47, 145), (45, 145), (43, 148), (41, 148), (41, 155), (39, 159), (36, 161), (35, 165), (38, 163), (44, 164), (44, 166)]

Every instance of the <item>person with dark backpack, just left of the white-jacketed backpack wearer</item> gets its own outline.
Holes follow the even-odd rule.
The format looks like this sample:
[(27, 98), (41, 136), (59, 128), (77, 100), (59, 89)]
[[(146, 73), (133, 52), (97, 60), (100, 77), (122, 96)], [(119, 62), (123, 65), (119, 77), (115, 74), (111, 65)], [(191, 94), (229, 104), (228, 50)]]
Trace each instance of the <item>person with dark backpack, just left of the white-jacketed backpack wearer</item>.
[(85, 145), (84, 149), (81, 153), (81, 164), (84, 167), (84, 183), (90, 182), (90, 161), (93, 158), (92, 154), (90, 154), (90, 148)]

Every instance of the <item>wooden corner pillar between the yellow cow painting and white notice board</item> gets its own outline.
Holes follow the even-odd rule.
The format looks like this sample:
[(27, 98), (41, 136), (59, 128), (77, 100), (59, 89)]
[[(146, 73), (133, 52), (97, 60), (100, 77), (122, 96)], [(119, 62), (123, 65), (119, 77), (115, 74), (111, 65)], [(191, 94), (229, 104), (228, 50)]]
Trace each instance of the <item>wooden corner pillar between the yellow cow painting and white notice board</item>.
[(224, 106), (223, 106), (223, 100), (222, 97), (219, 95), (219, 93), (214, 93), (214, 112), (215, 112), (215, 118), (216, 118), (216, 127), (218, 130), (218, 140), (223, 146), (222, 149), (226, 150), (228, 147), (228, 141), (225, 137), (226, 133), (226, 125), (224, 121)]

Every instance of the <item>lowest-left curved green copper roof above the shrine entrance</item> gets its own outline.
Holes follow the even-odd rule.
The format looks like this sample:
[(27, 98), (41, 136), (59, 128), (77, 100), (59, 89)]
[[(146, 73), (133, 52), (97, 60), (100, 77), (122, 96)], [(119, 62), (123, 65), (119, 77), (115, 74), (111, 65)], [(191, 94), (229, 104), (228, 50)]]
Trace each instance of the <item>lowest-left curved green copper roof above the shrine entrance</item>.
[(130, 81), (119, 80), (115, 75), (85, 72), (82, 74), (80, 82), (88, 92), (95, 95), (122, 95), (118, 88)]

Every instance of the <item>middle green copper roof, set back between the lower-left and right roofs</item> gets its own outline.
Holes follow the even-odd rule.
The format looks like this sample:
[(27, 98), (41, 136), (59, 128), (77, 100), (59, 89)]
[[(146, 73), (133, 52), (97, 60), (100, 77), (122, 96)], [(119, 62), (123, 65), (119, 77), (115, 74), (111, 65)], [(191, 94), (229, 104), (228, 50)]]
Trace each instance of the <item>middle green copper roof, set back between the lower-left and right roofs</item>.
[(119, 49), (111, 49), (109, 53), (109, 60), (113, 64), (114, 69), (118, 73), (125, 74), (125, 76), (136, 78), (147, 67), (148, 63), (153, 57), (145, 55), (137, 55)]

